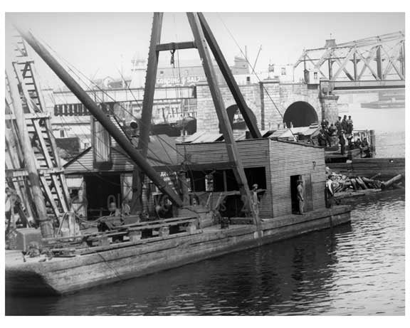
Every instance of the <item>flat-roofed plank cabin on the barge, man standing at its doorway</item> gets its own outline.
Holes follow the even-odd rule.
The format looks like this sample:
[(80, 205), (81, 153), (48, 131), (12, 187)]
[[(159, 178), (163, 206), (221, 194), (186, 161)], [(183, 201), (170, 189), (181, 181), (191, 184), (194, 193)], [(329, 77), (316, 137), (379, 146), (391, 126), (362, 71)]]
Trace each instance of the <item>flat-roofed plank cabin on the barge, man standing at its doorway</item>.
[[(237, 146), (249, 186), (258, 184), (258, 189), (262, 189), (261, 218), (295, 213), (299, 179), (305, 186), (305, 211), (325, 208), (322, 148), (269, 138), (241, 140)], [(221, 193), (238, 190), (224, 142), (177, 144), (177, 162), (186, 163), (191, 191), (200, 201), (211, 199), (211, 203), (216, 203)]]

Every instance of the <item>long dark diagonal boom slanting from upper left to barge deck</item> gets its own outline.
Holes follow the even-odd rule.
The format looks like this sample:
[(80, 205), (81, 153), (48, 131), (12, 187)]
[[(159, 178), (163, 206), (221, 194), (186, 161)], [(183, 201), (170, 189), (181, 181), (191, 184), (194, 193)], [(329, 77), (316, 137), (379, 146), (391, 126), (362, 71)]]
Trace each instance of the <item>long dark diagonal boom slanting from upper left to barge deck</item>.
[(24, 31), (19, 26), (16, 26), (17, 31), (23, 36), (24, 40), (31, 46), (31, 48), (38, 53), (38, 55), (46, 62), (46, 64), (53, 70), (65, 85), (74, 93), (78, 100), (88, 109), (88, 111), (101, 123), (108, 133), (117, 141), (117, 143), (130, 156), (130, 159), (135, 162), (140, 169), (147, 174), (149, 179), (158, 187), (160, 191), (169, 196), (169, 200), (177, 206), (182, 206), (182, 201), (179, 196), (173, 191), (167, 182), (162, 179), (157, 172), (152, 168), (147, 160), (135, 149), (131, 142), (118, 129), (110, 118), (100, 110), (100, 107), (91, 99), (91, 97), (80, 87), (80, 85), (67, 73), (63, 66), (58, 63), (56, 58), (33, 36), (29, 31)]

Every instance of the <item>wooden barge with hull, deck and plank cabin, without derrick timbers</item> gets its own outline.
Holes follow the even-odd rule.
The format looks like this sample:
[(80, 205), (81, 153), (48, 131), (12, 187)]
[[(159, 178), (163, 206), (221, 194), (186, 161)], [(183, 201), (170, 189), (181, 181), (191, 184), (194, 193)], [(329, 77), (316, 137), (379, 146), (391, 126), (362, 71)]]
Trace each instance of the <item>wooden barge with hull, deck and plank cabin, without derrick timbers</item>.
[[(179, 210), (184, 217), (134, 223), (108, 231), (105, 236), (86, 236), (96, 241), (96, 245), (60, 248), (60, 255), (59, 249), (54, 248), (56, 256), (51, 260), (27, 258), (23, 262), (20, 252), (9, 251), (6, 292), (41, 295), (75, 292), (350, 221), (349, 206), (325, 207), (322, 148), (273, 139), (249, 139), (237, 145), (249, 183), (261, 187), (259, 227), (241, 209), (236, 211), (236, 217), (229, 218), (231, 224), (227, 228), (221, 228), (212, 218), (221, 196), (226, 196), (223, 216), (229, 216), (233, 207), (243, 206), (235, 181), (221, 179), (224, 185), (215, 179), (212, 191), (201, 189), (205, 187), (207, 172), (212, 171), (215, 177), (231, 176), (225, 142), (178, 144), (177, 149), (185, 149), (195, 163), (190, 170), (190, 176), (195, 178), (191, 180), (194, 190), (191, 200)], [(199, 167), (207, 169), (195, 171)], [(299, 179), (305, 181), (304, 215), (295, 214), (295, 184)], [(121, 242), (115, 242), (118, 236), (122, 236)]]

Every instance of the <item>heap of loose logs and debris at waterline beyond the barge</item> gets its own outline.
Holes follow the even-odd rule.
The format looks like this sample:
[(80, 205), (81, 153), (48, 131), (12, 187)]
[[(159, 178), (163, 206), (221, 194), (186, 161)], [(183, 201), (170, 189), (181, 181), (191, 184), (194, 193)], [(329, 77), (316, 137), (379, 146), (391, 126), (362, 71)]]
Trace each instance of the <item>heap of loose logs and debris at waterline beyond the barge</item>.
[(330, 170), (327, 171), (327, 174), (332, 175), (332, 187), (335, 194), (342, 193), (343, 191), (360, 191), (369, 189), (404, 189), (404, 175), (402, 174), (398, 174), (388, 181), (380, 181), (376, 179), (379, 174), (372, 176), (370, 179), (365, 176), (345, 176), (344, 174), (330, 172)]

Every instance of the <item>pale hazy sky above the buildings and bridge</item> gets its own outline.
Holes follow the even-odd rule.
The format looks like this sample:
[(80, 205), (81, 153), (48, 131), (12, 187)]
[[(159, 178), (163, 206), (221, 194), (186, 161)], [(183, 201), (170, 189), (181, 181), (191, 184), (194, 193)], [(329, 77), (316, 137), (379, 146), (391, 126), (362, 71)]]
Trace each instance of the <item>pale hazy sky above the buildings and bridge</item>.
[[(204, 13), (226, 60), (241, 55), (257, 71), (269, 63), (295, 63), (304, 48), (325, 45), (327, 38), (337, 43), (385, 33), (404, 31), (404, 13)], [(6, 58), (10, 46), (11, 22), (31, 29), (35, 35), (88, 78), (119, 78), (130, 75), (135, 56), (147, 58), (152, 13), (6, 13)], [(162, 42), (191, 41), (184, 13), (164, 13)], [(236, 44), (238, 43), (238, 45)], [(241, 47), (238, 48), (238, 46)], [(195, 50), (179, 51), (180, 60), (199, 58)], [(170, 54), (160, 60), (169, 63)], [(54, 87), (58, 78), (40, 59), (36, 67), (45, 86)]]

